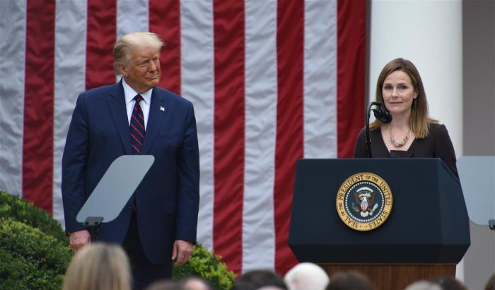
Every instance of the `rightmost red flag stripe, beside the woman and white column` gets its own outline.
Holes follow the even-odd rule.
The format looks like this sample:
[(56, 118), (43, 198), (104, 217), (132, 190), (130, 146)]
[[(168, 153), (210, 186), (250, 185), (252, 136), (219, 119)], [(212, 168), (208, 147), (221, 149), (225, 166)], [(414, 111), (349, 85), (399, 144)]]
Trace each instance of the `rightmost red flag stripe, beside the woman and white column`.
[[(364, 125), (366, 1), (337, 1), (337, 156), (350, 158)], [(354, 116), (354, 117), (338, 117)]]

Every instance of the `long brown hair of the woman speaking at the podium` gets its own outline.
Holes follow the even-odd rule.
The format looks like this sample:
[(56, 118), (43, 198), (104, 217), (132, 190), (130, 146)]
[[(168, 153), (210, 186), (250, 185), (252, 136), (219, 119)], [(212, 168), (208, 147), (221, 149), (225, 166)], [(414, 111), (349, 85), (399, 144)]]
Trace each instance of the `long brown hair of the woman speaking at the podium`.
[[(418, 95), (412, 103), (409, 125), (411, 126), (411, 131), (414, 133), (414, 136), (416, 138), (426, 138), (429, 134), (429, 124), (435, 124), (438, 123), (438, 121), (433, 120), (428, 116), (428, 101), (426, 100), (426, 93), (424, 91), (423, 81), (421, 81), (419, 71), (416, 69), (416, 66), (414, 66), (412, 62), (407, 59), (398, 58), (393, 59), (388, 64), (385, 64), (380, 73), (380, 76), (378, 76), (378, 80), (376, 81), (376, 101), (384, 103), (382, 95), (383, 83), (385, 83), (385, 79), (387, 79), (387, 77), (394, 71), (403, 71), (411, 79), (412, 87)], [(370, 125), (370, 129), (378, 129), (380, 126), (381, 122), (375, 120)]]

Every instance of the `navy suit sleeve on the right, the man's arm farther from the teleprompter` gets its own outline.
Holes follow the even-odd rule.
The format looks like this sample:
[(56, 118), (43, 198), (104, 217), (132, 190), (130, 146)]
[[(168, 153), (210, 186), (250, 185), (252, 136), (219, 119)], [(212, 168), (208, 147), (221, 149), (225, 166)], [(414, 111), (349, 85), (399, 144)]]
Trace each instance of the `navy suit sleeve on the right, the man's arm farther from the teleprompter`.
[(199, 149), (192, 104), (187, 112), (185, 138), (177, 160), (178, 192), (176, 240), (196, 243), (199, 210)]

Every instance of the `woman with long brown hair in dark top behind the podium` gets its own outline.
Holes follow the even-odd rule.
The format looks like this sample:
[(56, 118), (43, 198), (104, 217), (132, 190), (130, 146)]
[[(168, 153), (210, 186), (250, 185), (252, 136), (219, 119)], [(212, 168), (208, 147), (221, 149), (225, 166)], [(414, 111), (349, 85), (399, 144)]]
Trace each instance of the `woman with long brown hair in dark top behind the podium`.
[[(421, 76), (407, 59), (394, 59), (383, 67), (376, 82), (376, 101), (383, 103), (392, 121), (370, 124), (373, 158), (441, 158), (458, 176), (455, 152), (443, 124), (428, 115)], [(354, 158), (367, 158), (365, 130), (354, 145)]]

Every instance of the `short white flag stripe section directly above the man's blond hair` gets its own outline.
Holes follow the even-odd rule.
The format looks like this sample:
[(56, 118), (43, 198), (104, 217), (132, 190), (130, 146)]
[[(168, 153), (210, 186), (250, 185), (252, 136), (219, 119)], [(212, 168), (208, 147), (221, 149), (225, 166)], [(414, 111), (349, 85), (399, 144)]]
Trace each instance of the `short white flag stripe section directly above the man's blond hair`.
[(148, 31), (148, 23), (147, 0), (117, 1), (117, 40), (127, 33)]

